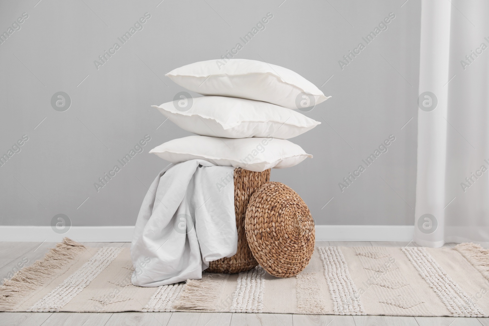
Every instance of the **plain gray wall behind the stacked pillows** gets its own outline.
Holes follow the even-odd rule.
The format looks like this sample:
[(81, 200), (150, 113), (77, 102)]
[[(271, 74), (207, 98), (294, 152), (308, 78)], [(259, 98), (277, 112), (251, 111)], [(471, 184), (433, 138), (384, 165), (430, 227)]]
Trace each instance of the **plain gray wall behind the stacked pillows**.
[[(299, 193), (318, 224), (413, 223), (420, 0), (158, 2), (1, 2), (0, 31), (28, 18), (0, 44), (0, 153), (24, 134), (28, 141), (0, 167), (0, 224), (49, 225), (61, 213), (72, 225), (133, 225), (168, 164), (148, 151), (189, 135), (160, 125), (150, 107), (184, 90), (164, 74), (219, 58), (268, 12), (273, 19), (237, 57), (292, 69), (333, 96), (305, 113), (322, 124), (291, 139), (314, 158), (272, 170), (272, 180)], [(97, 69), (94, 60), (146, 12), (143, 29)], [(391, 12), (388, 29), (341, 69)], [(71, 98), (63, 112), (51, 106), (59, 91)], [(97, 179), (147, 134), (144, 151), (97, 192)], [(391, 134), (388, 152), (341, 192), (343, 177)]]

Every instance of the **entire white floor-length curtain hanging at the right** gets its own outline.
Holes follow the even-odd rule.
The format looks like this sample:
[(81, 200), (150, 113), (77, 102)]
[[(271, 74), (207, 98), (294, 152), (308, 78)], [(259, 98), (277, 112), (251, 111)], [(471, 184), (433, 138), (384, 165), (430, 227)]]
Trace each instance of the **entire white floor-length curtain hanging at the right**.
[(485, 0), (422, 0), (414, 240), (423, 246), (489, 246), (488, 15)]

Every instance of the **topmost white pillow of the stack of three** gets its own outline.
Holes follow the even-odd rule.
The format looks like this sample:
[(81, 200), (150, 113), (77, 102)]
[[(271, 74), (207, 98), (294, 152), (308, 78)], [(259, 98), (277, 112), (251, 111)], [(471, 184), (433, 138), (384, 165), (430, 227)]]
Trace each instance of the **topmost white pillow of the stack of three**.
[(174, 69), (165, 76), (203, 95), (241, 97), (288, 109), (314, 106), (329, 98), (298, 73), (256, 60), (201, 61)]

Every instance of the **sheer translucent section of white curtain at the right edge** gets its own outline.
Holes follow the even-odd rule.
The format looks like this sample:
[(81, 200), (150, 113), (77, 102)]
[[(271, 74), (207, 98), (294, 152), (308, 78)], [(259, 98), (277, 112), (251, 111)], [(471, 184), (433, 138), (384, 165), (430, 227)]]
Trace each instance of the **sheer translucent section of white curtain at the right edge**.
[(489, 2), (453, 3), (445, 241), (489, 247)]

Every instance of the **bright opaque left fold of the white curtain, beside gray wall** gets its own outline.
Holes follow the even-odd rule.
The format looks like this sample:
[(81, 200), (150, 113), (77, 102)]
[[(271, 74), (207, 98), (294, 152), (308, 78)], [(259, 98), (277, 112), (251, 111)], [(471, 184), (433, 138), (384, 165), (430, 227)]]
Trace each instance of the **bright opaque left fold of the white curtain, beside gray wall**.
[(449, 1), (422, 0), (414, 239), (429, 247), (444, 244), (450, 12)]

